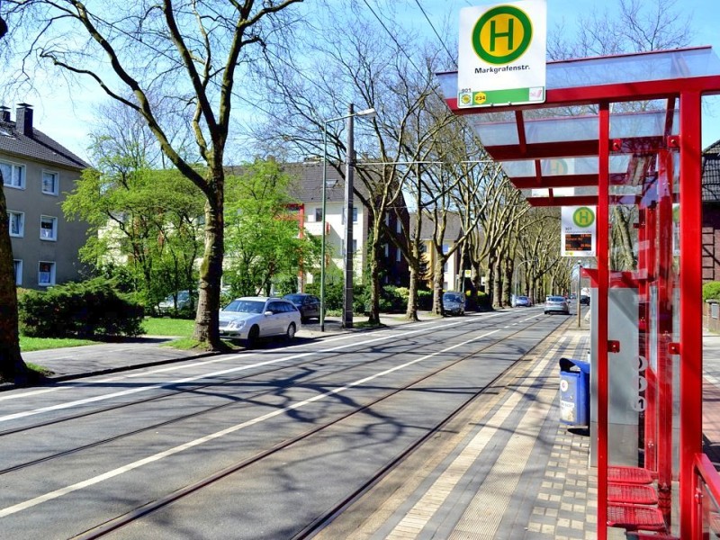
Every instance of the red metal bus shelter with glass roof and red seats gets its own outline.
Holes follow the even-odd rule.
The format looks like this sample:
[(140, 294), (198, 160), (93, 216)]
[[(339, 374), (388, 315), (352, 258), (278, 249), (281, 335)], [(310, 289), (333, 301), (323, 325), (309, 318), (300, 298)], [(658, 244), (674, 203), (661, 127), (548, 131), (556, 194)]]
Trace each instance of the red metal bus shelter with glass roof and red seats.
[(516, 106), (458, 107), (457, 73), (438, 77), (530, 204), (597, 207), (598, 537), (720, 537), (702, 454), (700, 142), (720, 60), (700, 47), (552, 62), (545, 103)]

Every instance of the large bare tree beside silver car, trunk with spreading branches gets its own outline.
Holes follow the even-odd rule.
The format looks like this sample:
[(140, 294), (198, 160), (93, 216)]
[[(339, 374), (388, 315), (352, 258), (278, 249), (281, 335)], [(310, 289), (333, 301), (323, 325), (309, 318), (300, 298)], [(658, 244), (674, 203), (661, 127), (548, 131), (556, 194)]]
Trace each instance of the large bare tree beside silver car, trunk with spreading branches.
[[(14, 53), (22, 59), (19, 81), (32, 85), (29, 69), (34, 58), (49, 62), (65, 76), (93, 80), (112, 99), (139, 113), (165, 156), (202, 191), (205, 246), (193, 338), (212, 348), (221, 347), (223, 166), (236, 82), (254, 59), (253, 50), (269, 48), (289, 32), (283, 12), (301, 1), (4, 3), (4, 15), (16, 30), (0, 54)], [(163, 102), (168, 104), (161, 114), (158, 103)], [(167, 111), (193, 133), (201, 167), (188, 161), (168, 134)]]

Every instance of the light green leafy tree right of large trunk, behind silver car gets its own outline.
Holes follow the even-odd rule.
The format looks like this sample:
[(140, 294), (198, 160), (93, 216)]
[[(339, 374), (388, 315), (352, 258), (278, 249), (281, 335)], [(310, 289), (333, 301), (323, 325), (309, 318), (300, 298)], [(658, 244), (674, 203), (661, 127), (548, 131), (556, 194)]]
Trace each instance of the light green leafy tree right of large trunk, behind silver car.
[(291, 181), (273, 160), (256, 160), (228, 177), (226, 281), (233, 294), (269, 293), (273, 284), (297, 279), (302, 266), (320, 265), (319, 238), (293, 212)]

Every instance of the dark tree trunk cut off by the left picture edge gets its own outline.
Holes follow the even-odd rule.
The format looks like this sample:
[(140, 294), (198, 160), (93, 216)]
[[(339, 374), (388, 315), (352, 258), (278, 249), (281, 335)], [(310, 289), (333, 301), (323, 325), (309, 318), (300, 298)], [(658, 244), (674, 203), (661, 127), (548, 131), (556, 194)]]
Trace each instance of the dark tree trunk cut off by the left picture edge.
[(27, 367), (20, 355), (13, 246), (2, 180), (0, 173), (0, 380), (25, 383)]

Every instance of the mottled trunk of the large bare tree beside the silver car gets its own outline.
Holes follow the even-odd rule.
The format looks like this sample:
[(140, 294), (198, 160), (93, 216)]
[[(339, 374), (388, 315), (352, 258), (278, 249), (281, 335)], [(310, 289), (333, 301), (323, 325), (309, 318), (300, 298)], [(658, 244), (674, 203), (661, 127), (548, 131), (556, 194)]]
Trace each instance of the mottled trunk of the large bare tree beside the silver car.
[(224, 178), (215, 175), (213, 199), (205, 203), (205, 250), (200, 266), (200, 292), (195, 314), (193, 339), (206, 342), (212, 350), (224, 348), (220, 341), (220, 278), (224, 251)]

